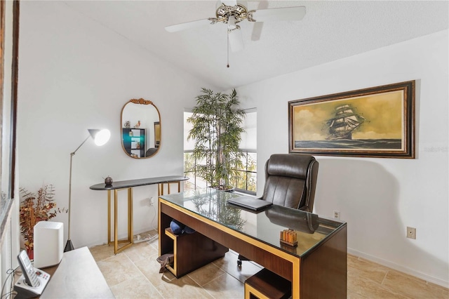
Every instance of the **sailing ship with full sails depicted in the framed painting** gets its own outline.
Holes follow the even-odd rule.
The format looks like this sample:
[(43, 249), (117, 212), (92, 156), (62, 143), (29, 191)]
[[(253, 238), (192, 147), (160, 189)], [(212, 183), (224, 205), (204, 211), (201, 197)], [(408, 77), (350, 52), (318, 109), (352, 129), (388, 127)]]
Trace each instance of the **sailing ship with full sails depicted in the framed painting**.
[(352, 131), (356, 130), (365, 118), (356, 114), (350, 105), (342, 105), (335, 108), (335, 116), (326, 121), (328, 137), (326, 140), (352, 139)]

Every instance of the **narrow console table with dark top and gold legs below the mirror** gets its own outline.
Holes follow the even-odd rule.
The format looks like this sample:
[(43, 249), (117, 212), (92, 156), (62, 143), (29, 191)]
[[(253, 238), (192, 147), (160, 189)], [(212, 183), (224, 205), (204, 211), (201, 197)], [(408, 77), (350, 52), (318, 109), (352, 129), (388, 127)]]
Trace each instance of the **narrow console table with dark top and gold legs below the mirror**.
[[(107, 244), (114, 243), (114, 253), (119, 253), (133, 245), (133, 187), (145, 185), (158, 185), (158, 196), (163, 195), (163, 186), (167, 185), (170, 194), (170, 184), (177, 184), (177, 192), (181, 192), (181, 182), (188, 180), (186, 176), (170, 175), (156, 178), (142, 178), (138, 180), (121, 180), (113, 182), (112, 185), (100, 183), (92, 185), (91, 190), (107, 191)], [(118, 238), (118, 199), (120, 190), (128, 190), (128, 238), (119, 240)], [(111, 241), (111, 190), (114, 190), (114, 241)], [(119, 243), (124, 244), (119, 248)]]

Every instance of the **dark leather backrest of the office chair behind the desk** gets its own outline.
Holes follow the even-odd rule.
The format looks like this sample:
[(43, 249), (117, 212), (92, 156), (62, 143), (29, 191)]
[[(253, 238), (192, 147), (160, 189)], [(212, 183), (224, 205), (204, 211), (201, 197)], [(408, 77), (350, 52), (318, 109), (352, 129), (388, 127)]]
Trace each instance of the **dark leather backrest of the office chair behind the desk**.
[(319, 163), (309, 154), (272, 154), (265, 164), (262, 199), (311, 212)]

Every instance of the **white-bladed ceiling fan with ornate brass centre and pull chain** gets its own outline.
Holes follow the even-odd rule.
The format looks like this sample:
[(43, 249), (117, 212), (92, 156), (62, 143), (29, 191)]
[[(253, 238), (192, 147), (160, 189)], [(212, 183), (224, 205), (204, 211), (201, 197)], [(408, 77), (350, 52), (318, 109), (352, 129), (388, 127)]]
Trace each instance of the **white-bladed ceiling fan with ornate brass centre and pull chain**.
[[(248, 20), (248, 22), (266, 22), (266, 21), (286, 21), (286, 20), (302, 20), (306, 14), (304, 6), (294, 6), (285, 8), (268, 8), (248, 11), (245, 1), (221, 0), (217, 2), (217, 10), (215, 18), (207, 18), (203, 20), (195, 20), (177, 25), (166, 27), (168, 32), (180, 32), (182, 30), (201, 27), (204, 25), (214, 25), (219, 22), (227, 25), (227, 44), (228, 44), (228, 60), (229, 46), (233, 52), (243, 49), (243, 38), (240, 31), (239, 22)], [(229, 67), (229, 62), (227, 67)]]

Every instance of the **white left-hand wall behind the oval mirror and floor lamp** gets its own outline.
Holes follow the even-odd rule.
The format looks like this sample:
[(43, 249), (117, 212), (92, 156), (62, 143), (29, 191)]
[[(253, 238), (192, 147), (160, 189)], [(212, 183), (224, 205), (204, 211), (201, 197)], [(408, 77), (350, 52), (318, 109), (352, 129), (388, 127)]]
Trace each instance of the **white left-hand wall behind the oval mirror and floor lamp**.
[[(68, 207), (69, 157), (87, 128), (109, 128), (102, 147), (88, 140), (73, 157), (72, 230), (76, 248), (107, 241), (107, 192), (89, 186), (114, 180), (182, 175), (182, 114), (201, 87), (127, 39), (59, 1), (22, 1), (18, 103), (19, 185), (53, 184), (58, 207)], [(132, 98), (152, 100), (161, 114), (161, 148), (133, 159), (121, 147), (121, 109)], [(134, 231), (157, 225), (149, 198), (156, 186), (134, 189)], [(119, 192), (119, 236), (126, 235), (126, 192)], [(67, 215), (55, 221), (65, 223)]]

